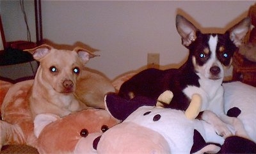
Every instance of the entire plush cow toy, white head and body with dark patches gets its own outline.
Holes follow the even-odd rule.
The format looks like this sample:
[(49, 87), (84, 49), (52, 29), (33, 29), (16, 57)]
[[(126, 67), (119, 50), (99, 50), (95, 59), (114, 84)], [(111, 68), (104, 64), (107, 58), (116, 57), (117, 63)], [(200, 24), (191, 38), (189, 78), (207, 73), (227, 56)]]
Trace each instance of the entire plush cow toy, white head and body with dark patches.
[[(237, 136), (223, 139), (216, 135), (211, 125), (198, 119), (189, 120), (182, 111), (147, 106), (138, 108), (138, 104), (150, 104), (152, 100), (148, 98), (129, 100), (124, 105), (118, 103), (118, 96), (107, 95), (106, 109), (112, 116), (124, 122), (109, 129), (97, 139), (97, 152), (141, 153), (147, 150), (148, 153), (255, 153), (256, 89), (241, 82), (223, 86), (226, 91), (225, 112), (228, 116), (235, 116), (243, 121), (246, 131), (250, 134), (250, 140)], [(244, 98), (247, 100), (244, 101)], [(134, 127), (136, 129), (133, 129)], [(159, 147), (159, 144), (163, 147)]]

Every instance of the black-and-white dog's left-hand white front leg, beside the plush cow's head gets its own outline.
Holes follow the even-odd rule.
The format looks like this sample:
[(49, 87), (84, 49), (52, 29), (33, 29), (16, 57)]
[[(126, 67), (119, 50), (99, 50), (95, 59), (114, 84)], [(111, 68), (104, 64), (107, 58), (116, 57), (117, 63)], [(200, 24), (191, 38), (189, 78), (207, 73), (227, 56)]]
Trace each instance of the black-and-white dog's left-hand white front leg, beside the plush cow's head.
[(224, 138), (232, 135), (232, 127), (221, 121), (221, 119), (214, 112), (205, 110), (202, 112), (200, 118), (207, 123), (210, 123), (218, 135), (223, 136)]

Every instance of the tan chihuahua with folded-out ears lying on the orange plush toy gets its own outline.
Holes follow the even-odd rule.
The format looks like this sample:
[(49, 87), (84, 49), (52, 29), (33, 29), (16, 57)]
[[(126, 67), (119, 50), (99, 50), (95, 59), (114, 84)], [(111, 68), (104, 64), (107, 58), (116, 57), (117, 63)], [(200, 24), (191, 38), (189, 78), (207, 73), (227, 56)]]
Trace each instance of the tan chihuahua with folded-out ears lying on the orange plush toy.
[(33, 118), (41, 113), (66, 116), (87, 109), (86, 102), (104, 108), (104, 95), (115, 91), (107, 79), (84, 70), (86, 62), (96, 56), (86, 49), (58, 50), (44, 44), (26, 51), (40, 62), (29, 98)]

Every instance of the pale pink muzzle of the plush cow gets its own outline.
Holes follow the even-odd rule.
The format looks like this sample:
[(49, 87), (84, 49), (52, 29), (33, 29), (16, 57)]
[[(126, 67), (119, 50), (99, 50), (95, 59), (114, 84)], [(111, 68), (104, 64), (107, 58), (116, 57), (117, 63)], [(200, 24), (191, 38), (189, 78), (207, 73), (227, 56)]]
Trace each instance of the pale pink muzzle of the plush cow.
[(154, 130), (136, 123), (120, 123), (100, 138), (97, 153), (171, 153), (168, 142)]

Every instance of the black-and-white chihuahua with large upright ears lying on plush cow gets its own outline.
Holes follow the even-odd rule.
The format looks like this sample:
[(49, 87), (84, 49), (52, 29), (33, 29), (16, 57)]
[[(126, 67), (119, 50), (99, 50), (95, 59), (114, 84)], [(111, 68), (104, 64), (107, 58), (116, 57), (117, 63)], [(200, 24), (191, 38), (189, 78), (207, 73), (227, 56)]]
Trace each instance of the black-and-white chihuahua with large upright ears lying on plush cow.
[[(145, 96), (156, 102), (161, 93), (170, 90), (173, 93), (172, 102), (164, 104), (164, 107), (185, 111), (192, 95), (198, 93), (202, 97), (201, 111), (204, 111), (201, 118), (211, 123), (216, 133), (224, 137), (232, 134), (247, 137), (238, 119), (230, 118), (224, 113), (224, 91), (221, 84), (224, 69), (230, 67), (234, 52), (250, 29), (250, 18), (241, 20), (224, 34), (201, 33), (181, 15), (176, 17), (176, 27), (182, 38), (182, 45), (189, 49), (186, 63), (179, 69), (143, 70), (122, 84), (118, 97), (132, 100)], [(108, 105), (108, 95), (105, 99)], [(234, 132), (228, 129), (226, 123), (234, 127)]]

